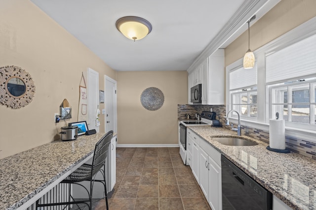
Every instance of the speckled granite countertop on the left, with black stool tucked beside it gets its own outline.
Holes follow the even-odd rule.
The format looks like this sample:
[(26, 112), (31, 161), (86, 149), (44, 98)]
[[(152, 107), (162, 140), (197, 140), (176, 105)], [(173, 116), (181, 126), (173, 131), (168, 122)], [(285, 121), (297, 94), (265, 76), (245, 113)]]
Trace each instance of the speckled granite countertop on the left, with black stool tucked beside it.
[(14, 210), (94, 151), (105, 133), (53, 141), (0, 160), (0, 210)]

